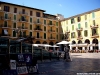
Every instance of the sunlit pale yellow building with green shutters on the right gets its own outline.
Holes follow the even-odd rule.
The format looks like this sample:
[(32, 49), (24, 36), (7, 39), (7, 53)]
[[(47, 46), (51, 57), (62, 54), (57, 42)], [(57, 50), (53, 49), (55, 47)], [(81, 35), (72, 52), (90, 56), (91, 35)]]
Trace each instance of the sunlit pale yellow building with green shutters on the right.
[[(98, 49), (100, 42), (100, 8), (78, 14), (61, 21), (65, 39), (72, 44), (95, 44), (91, 50)], [(82, 47), (80, 48), (82, 49)]]

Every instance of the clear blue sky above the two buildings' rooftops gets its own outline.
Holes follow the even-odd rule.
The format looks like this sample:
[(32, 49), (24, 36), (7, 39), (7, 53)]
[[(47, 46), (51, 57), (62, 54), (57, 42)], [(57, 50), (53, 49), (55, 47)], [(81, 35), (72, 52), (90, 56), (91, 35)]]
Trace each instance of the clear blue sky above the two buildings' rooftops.
[(100, 8), (100, 0), (0, 0), (45, 10), (48, 14), (62, 14), (68, 18)]

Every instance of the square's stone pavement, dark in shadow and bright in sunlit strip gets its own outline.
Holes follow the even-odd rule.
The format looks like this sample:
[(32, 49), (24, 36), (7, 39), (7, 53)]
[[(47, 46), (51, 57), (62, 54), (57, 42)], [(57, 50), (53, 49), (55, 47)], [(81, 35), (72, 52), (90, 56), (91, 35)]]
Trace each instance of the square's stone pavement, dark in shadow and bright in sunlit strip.
[(77, 73), (100, 75), (100, 53), (71, 53), (71, 58), (71, 62), (52, 60), (39, 63), (37, 75), (78, 75)]

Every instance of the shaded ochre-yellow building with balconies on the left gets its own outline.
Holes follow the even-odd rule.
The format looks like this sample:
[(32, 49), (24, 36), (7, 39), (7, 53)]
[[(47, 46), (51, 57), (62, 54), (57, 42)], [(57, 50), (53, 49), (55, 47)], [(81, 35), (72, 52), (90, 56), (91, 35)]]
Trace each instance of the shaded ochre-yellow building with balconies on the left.
[(15, 39), (21, 36), (35, 37), (33, 43), (55, 44), (59, 38), (60, 21), (45, 10), (0, 2), (0, 37)]

